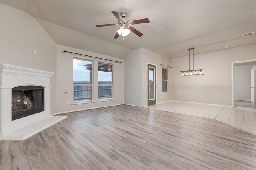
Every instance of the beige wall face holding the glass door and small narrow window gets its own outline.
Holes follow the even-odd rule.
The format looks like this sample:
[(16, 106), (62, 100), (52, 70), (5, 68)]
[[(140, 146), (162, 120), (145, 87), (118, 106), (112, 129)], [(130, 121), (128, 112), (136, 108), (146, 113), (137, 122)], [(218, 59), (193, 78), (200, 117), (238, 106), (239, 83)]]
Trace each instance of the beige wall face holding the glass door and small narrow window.
[[(150, 50), (142, 48), (142, 106), (147, 106), (147, 81), (148, 81), (148, 72), (147, 72), (147, 64), (155, 64), (157, 65), (156, 70), (156, 102), (162, 103), (171, 100), (171, 72), (172, 68), (168, 68), (166, 66), (171, 65), (171, 59), (160, 55), (158, 53), (152, 52)], [(161, 66), (161, 64), (166, 66)], [(167, 68), (167, 80), (168, 80), (168, 92), (162, 92), (162, 68)]]

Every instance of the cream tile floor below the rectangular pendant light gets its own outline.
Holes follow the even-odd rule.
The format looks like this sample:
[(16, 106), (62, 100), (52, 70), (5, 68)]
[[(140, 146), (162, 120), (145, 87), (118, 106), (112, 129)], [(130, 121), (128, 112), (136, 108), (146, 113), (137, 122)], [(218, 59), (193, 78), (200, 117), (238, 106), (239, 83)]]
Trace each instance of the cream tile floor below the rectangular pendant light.
[(185, 102), (166, 102), (147, 107), (149, 109), (216, 119), (256, 135), (256, 109)]

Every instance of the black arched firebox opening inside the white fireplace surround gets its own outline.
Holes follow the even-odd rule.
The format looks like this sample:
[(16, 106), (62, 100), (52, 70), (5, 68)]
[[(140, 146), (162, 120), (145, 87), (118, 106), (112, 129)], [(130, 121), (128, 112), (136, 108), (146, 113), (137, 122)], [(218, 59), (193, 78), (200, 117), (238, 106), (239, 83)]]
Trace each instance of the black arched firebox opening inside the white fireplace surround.
[(12, 121), (44, 111), (44, 88), (19, 86), (12, 89)]

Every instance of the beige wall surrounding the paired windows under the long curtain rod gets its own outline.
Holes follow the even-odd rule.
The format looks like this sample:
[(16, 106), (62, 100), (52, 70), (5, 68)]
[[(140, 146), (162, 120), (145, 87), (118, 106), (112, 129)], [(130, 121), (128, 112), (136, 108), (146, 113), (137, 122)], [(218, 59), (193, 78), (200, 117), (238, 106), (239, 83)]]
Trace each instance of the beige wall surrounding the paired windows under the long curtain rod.
[[(72, 51), (74, 53), (80, 53), (90, 55), (94, 57), (100, 57), (104, 59), (110, 59), (115, 61), (121, 61), (122, 63), (115, 63), (111, 61), (94, 59), (92, 57), (84, 57), (80, 55), (73, 55), (70, 53), (64, 53), (63, 51)], [(94, 67), (94, 103), (72, 105), (73, 102), (73, 57), (88, 59), (94, 61), (94, 66), (98, 66), (98, 61), (104, 63), (114, 64), (113, 66), (113, 101), (98, 102), (98, 70)], [(56, 112), (63, 113), (69, 111), (84, 110), (96, 107), (104, 107), (111, 105), (118, 105), (124, 103), (124, 60), (116, 57), (93, 53), (90, 51), (84, 51), (75, 49), (72, 47), (66, 47), (63, 45), (57, 45), (57, 98), (56, 98)], [(67, 94), (64, 94), (67, 92)], [(121, 97), (121, 99), (120, 99)], [(70, 104), (67, 104), (70, 101)]]

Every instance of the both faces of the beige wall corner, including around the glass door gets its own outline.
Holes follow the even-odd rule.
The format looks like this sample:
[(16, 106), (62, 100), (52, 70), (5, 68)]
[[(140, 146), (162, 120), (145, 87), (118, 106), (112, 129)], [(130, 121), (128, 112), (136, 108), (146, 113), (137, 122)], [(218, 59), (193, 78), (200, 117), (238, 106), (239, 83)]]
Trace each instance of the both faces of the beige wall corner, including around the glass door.
[[(135, 49), (124, 59), (124, 103), (147, 106), (147, 64), (157, 65), (157, 103), (170, 97), (171, 68), (168, 68), (168, 92), (162, 92), (162, 66), (170, 66), (171, 59), (144, 48)], [(166, 68), (166, 67), (164, 67)]]

